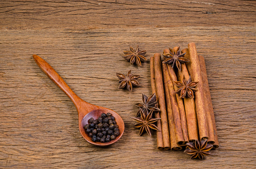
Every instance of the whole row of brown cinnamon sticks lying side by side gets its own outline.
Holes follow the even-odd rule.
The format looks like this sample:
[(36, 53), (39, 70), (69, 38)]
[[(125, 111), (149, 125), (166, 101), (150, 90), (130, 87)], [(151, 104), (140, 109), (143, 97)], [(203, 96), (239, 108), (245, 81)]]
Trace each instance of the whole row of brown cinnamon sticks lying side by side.
[[(178, 47), (174, 47), (175, 51)], [(164, 53), (170, 52), (165, 49)], [(181, 71), (171, 64), (162, 63), (161, 54), (150, 58), (152, 92), (156, 93), (161, 117), (157, 123), (157, 146), (161, 150), (180, 150), (187, 142), (208, 139), (214, 148), (219, 147), (210, 89), (204, 57), (197, 54), (195, 43), (181, 51), (189, 62), (181, 63)], [(183, 78), (199, 81), (194, 98), (181, 98), (173, 81)]]

